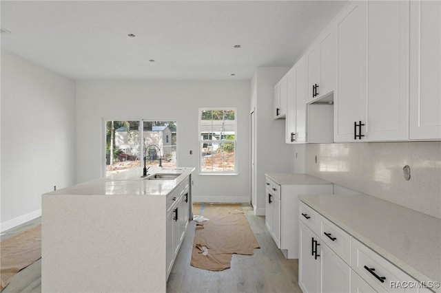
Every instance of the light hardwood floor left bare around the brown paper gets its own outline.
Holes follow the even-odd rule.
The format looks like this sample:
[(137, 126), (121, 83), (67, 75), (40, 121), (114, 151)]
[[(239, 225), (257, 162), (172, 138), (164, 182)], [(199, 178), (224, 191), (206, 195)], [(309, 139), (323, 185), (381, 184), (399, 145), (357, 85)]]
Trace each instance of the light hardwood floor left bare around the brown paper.
[[(243, 209), (260, 249), (251, 256), (233, 254), (231, 268), (221, 272), (194, 268), (189, 265), (195, 227), (192, 221), (167, 281), (167, 292), (302, 292), (298, 287), (298, 261), (283, 257), (265, 227), (265, 217), (253, 215), (249, 205), (243, 205)], [(10, 229), (1, 240), (39, 223), (38, 218)], [(12, 292), (41, 292), (41, 260), (13, 276), (1, 293)]]

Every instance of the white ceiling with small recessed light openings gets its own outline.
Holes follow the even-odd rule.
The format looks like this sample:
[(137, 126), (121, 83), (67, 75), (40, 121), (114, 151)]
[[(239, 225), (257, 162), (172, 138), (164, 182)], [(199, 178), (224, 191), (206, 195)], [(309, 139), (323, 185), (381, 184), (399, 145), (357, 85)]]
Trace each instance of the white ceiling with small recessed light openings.
[(292, 65), (345, 3), (2, 0), (1, 47), (76, 80), (249, 80)]

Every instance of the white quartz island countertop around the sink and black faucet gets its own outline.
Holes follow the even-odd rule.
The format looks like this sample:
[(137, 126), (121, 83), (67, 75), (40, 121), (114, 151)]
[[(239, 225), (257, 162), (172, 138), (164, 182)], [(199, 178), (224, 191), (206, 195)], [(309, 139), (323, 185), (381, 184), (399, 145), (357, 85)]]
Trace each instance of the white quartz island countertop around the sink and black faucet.
[(141, 177), (143, 169), (136, 168), (45, 193), (45, 195), (167, 195), (193, 171), (194, 168), (152, 167), (147, 175), (154, 173), (181, 173), (181, 175), (174, 180), (148, 180), (147, 177)]

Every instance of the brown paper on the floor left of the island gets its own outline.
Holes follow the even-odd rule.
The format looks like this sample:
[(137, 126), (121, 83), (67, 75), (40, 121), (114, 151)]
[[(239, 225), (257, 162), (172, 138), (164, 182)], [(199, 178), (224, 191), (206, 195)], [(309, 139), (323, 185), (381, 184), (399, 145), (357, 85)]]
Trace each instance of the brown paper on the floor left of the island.
[(10, 277), (41, 258), (41, 225), (2, 241), (0, 252), (0, 288), (3, 290)]

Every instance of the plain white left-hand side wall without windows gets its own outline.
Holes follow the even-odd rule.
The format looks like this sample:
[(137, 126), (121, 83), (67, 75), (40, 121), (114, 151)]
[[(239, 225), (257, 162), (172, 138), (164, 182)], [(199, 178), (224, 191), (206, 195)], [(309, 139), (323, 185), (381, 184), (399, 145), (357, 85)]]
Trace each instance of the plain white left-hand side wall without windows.
[(75, 182), (75, 82), (1, 50), (1, 230)]

